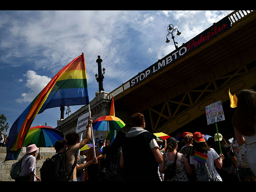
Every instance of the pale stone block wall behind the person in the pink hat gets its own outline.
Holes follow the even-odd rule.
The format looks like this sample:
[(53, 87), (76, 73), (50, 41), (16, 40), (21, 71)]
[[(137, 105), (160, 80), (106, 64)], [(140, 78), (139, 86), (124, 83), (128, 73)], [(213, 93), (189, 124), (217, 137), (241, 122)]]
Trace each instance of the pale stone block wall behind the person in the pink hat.
[[(37, 151), (36, 156), (38, 155)], [(40, 155), (43, 156), (42, 160), (38, 160), (36, 164), (36, 176), (40, 177), (40, 168), (47, 158), (51, 158), (55, 154), (55, 150), (52, 147), (40, 148)], [(23, 147), (18, 160), (26, 153), (26, 148)], [(12, 164), (16, 163), (18, 160), (8, 160), (4, 162), (6, 157), (6, 147), (0, 147), (0, 181), (14, 181), (10, 177), (10, 169)], [(4, 163), (3, 163), (4, 162)]]

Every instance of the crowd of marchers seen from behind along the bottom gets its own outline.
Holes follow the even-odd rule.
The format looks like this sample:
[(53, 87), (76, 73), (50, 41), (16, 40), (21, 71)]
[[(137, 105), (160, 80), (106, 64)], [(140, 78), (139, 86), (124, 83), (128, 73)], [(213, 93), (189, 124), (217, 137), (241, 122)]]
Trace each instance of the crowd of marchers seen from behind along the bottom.
[[(90, 140), (88, 120), (86, 136), (78, 142), (78, 134), (71, 132), (65, 140), (56, 142), (56, 154), (66, 151), (65, 165), (70, 181), (81, 181), (86, 173), (88, 182), (101, 181), (256, 181), (256, 92), (243, 90), (238, 96), (234, 113), (234, 140), (230, 143), (222, 134), (204, 139), (200, 132), (186, 135), (179, 142), (173, 137), (159, 140), (146, 130), (144, 115), (132, 115), (133, 127), (129, 132), (118, 131), (114, 142), (106, 146), (101, 154), (90, 148), (86, 154), (77, 152)], [(27, 147), (26, 170), (36, 176), (37, 147)], [(95, 150), (95, 151), (94, 151)]]

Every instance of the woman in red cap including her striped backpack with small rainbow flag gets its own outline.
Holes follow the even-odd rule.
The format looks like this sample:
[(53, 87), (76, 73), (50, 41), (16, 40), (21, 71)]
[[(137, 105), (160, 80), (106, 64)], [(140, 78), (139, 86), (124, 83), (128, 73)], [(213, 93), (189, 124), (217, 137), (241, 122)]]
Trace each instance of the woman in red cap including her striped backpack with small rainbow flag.
[(213, 148), (210, 148), (200, 132), (193, 134), (193, 140), (190, 164), (193, 165), (196, 172), (196, 180), (222, 181), (222, 178), (214, 168), (214, 163), (218, 168), (222, 168), (224, 155), (218, 155)]

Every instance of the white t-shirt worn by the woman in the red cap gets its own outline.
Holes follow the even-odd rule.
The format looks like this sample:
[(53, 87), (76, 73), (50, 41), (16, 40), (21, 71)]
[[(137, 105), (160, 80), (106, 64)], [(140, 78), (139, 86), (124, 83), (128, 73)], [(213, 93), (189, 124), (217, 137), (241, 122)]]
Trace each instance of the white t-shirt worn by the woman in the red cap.
[[(210, 170), (215, 173), (217, 177), (217, 181), (222, 181), (222, 178), (218, 174), (217, 170), (214, 168), (214, 160), (219, 158), (220, 156), (216, 153), (216, 151), (213, 148), (210, 148), (211, 150), (207, 152), (208, 158), (206, 160), (207, 165), (209, 166)], [(194, 160), (194, 156), (190, 156), (190, 164), (194, 164), (197, 168), (197, 160)]]

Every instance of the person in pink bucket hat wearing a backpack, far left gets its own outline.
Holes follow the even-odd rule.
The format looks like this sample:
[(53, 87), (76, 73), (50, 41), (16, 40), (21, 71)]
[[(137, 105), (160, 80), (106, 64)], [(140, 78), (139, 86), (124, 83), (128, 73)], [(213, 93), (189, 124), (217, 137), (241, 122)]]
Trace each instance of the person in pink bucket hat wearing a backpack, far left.
[(36, 162), (40, 159), (40, 154), (35, 158), (36, 152), (39, 148), (35, 144), (28, 144), (26, 154), (22, 157), (21, 176), (27, 177), (28, 181), (40, 181), (36, 176)]

